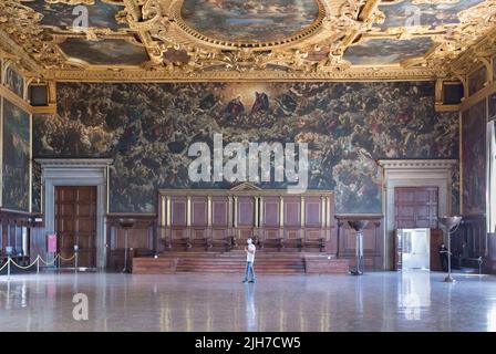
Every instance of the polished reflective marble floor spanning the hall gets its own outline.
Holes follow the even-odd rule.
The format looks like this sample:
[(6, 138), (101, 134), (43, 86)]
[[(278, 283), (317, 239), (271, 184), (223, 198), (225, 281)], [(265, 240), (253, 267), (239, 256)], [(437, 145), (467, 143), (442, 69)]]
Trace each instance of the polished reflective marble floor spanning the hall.
[[(3, 331), (496, 331), (496, 277), (0, 275)], [(74, 320), (84, 313), (87, 320)], [(75, 300), (81, 301), (81, 298)], [(84, 317), (84, 315), (83, 315)]]

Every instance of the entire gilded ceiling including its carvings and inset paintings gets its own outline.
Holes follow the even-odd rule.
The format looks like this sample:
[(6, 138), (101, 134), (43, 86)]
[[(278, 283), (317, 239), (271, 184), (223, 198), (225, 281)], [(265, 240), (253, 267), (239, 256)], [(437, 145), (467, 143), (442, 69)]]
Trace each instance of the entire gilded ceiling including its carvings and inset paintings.
[(0, 2), (3, 55), (45, 80), (450, 79), (495, 38), (496, 0)]

